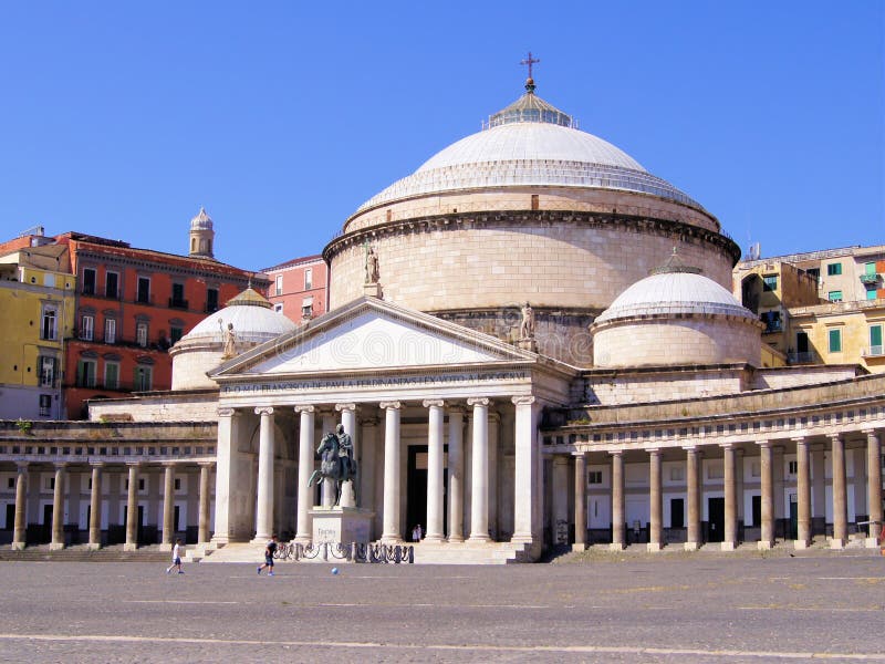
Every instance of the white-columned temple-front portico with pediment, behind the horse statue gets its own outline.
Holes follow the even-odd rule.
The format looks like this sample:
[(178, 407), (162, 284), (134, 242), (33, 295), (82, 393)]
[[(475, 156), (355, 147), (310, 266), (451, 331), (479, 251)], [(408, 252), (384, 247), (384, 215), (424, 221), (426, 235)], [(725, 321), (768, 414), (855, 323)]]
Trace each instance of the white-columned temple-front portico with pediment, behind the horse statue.
[[(540, 413), (568, 401), (573, 372), (374, 298), (319, 322), (212, 375), (214, 540), (261, 541), (269, 515), (284, 512), (309, 542), (310, 509), (324, 500), (306, 486), (314, 450), (340, 419), (361, 469), (360, 507), (375, 512), (373, 540), (402, 542), (421, 523), (428, 543), (512, 541), (540, 554)], [(317, 425), (316, 413), (334, 416)], [(273, 465), (290, 457), (296, 486), (275, 491)]]

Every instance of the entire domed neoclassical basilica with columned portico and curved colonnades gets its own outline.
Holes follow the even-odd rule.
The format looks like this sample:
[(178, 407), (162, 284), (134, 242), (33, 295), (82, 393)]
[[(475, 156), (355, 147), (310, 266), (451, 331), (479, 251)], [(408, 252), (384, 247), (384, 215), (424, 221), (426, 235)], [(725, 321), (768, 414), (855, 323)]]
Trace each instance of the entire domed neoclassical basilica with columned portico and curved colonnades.
[(323, 258), (327, 313), (296, 326), (249, 289), (170, 350), (171, 391), (4, 424), (9, 541), (186, 533), (207, 561), (309, 543), (333, 508), (316, 447), (342, 424), (365, 538), (420, 523), (416, 562), (877, 544), (885, 377), (769, 366), (718, 219), (531, 77)]

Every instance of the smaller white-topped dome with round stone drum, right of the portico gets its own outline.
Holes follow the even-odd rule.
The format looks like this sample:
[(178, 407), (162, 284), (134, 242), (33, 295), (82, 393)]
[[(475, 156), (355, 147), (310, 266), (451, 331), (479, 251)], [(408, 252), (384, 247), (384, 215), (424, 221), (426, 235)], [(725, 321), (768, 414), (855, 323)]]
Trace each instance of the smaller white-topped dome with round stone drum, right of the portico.
[(598, 367), (761, 364), (762, 323), (674, 253), (591, 325)]

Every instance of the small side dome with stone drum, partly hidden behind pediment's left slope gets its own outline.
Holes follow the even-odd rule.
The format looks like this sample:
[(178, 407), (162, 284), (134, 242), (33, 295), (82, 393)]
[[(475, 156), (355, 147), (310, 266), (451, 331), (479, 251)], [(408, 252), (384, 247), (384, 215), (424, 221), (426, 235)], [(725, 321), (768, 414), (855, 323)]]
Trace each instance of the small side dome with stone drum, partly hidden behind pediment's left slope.
[(173, 390), (215, 387), (206, 372), (260, 343), (293, 331), (298, 325), (273, 311), (261, 293), (247, 288), (227, 305), (202, 321), (169, 349)]

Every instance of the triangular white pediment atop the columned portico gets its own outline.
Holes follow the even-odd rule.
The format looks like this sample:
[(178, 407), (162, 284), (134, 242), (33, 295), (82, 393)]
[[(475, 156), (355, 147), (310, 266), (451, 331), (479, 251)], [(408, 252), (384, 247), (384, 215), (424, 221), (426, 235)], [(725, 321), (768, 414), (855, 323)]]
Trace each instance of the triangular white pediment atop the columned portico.
[(362, 298), (231, 360), (212, 377), (283, 376), (534, 362), (488, 334), (374, 298)]

